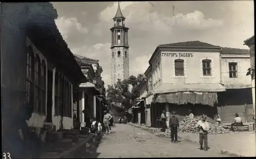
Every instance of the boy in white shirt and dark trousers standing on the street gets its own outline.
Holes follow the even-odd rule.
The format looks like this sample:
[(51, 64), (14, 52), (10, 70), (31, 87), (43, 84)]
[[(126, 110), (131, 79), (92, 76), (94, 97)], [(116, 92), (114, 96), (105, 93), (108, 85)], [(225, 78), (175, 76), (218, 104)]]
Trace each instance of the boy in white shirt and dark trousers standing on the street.
[[(208, 150), (208, 130), (209, 124), (206, 121), (206, 116), (204, 115), (201, 120), (198, 121), (197, 127), (199, 128), (199, 143), (200, 143), (200, 150)], [(204, 144), (204, 148), (203, 148)]]

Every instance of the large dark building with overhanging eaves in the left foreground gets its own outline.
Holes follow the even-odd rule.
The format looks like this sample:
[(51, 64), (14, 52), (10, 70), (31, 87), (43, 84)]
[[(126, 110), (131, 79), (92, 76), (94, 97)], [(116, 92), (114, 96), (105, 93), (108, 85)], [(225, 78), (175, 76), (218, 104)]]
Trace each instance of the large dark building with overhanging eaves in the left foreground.
[(87, 82), (63, 40), (51, 3), (1, 3), (3, 136), (25, 103), (28, 125), (73, 128), (73, 91)]

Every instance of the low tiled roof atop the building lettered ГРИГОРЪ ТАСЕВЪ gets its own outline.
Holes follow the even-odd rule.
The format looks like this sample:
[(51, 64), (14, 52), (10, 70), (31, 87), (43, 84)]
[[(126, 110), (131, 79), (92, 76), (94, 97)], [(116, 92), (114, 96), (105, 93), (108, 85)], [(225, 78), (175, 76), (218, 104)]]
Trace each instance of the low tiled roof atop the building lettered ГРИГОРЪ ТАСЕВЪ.
[(211, 45), (201, 41), (185, 41), (185, 42), (177, 42), (177, 43), (169, 43), (169, 44), (160, 44), (158, 47), (220, 47), (216, 45)]

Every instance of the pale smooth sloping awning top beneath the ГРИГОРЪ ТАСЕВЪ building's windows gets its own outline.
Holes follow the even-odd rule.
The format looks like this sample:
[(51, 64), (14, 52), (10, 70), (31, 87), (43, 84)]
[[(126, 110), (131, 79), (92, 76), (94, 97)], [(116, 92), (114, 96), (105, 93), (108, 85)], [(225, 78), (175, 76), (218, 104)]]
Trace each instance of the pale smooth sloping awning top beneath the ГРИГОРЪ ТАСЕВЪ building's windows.
[(154, 90), (154, 94), (173, 92), (223, 92), (226, 88), (221, 84), (162, 84)]

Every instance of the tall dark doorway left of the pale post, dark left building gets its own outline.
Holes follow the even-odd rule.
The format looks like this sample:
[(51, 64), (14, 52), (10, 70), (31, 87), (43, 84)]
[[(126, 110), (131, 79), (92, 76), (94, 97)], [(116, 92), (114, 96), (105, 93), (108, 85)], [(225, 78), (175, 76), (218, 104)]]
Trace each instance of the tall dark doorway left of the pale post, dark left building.
[(47, 71), (47, 122), (52, 122), (52, 82), (53, 82), (53, 72)]

